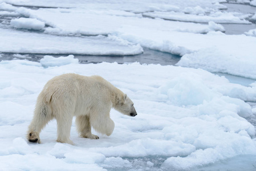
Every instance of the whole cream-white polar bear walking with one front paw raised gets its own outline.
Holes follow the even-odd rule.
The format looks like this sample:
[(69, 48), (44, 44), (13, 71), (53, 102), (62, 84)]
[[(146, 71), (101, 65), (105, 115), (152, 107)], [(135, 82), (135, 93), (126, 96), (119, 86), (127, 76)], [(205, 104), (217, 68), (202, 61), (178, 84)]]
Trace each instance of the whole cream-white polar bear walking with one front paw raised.
[(81, 137), (99, 139), (91, 133), (91, 127), (110, 136), (115, 127), (109, 117), (111, 108), (124, 115), (137, 115), (132, 100), (100, 76), (56, 76), (46, 83), (38, 96), (27, 139), (40, 143), (40, 131), (48, 121), (56, 119), (57, 141), (73, 144), (70, 140), (73, 116), (76, 116), (76, 128)]

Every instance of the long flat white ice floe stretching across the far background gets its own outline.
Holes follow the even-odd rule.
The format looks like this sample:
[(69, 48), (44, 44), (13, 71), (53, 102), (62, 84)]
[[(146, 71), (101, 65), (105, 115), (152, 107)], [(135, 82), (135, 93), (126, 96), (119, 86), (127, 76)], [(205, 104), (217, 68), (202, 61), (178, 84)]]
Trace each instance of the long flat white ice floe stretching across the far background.
[[(154, 8), (154, 7), (152, 7)], [(119, 28), (136, 26), (147, 28), (148, 32), (171, 31), (178, 28), (186, 32), (209, 32), (212, 29), (207, 25), (164, 21), (109, 10), (84, 10), (84, 9), (19, 9), (17, 13), (30, 18), (38, 18), (50, 25), (47, 33), (56, 35), (83, 34), (99, 35), (113, 34), (121, 31)], [(64, 18), (64, 19), (63, 19)], [(209, 21), (207, 21), (209, 22)]]

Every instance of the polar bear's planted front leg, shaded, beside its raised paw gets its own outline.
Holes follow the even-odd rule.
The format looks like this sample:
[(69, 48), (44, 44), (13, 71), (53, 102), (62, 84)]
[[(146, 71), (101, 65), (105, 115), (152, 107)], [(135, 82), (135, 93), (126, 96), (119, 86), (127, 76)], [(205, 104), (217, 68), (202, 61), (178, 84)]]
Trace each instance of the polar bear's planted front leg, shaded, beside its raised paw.
[(80, 137), (99, 139), (98, 136), (92, 134), (90, 118), (88, 116), (76, 116), (76, 129), (78, 129)]

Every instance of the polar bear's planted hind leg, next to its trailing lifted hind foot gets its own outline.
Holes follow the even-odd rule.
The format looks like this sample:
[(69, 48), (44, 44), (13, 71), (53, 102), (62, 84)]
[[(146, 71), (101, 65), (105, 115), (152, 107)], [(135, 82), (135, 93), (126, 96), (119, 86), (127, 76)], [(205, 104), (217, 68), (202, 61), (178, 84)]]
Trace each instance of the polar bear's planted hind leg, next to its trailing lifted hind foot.
[(74, 145), (74, 143), (70, 140), (70, 130), (72, 125), (72, 115), (68, 115), (68, 113), (61, 113), (62, 115), (57, 115), (57, 133), (58, 138), (57, 141), (59, 143), (68, 143)]

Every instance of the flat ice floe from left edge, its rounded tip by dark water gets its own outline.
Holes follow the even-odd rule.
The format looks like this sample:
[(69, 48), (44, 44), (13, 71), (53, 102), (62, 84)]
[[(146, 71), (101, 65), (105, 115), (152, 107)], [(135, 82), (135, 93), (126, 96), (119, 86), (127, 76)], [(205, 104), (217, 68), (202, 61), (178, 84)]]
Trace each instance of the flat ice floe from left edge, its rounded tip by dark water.
[(140, 44), (111, 36), (56, 36), (0, 28), (0, 51), (24, 54), (137, 55)]

